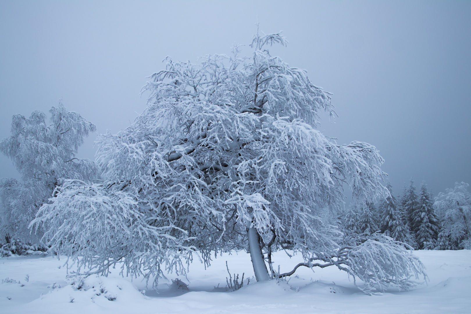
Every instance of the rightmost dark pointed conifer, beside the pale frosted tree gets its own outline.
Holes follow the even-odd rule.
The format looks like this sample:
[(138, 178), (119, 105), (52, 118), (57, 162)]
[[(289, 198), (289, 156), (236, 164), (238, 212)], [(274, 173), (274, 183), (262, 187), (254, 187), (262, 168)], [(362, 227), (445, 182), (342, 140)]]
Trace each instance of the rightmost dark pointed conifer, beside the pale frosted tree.
[(437, 238), (440, 231), (440, 221), (435, 215), (432, 197), (427, 185), (422, 182), (418, 205), (412, 214), (413, 227), (417, 230), (415, 239), (420, 249), (433, 250), (437, 247)]

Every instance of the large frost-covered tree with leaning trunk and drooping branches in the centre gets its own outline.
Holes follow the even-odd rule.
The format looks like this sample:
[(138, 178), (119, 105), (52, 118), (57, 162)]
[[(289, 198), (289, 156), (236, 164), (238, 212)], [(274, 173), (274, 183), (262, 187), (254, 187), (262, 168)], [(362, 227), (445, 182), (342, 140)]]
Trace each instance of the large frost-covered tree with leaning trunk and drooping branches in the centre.
[[(389, 237), (339, 244), (343, 186), (357, 201), (389, 195), (380, 183), (383, 159), (373, 145), (337, 145), (316, 129), (322, 111), (335, 116), (331, 96), (305, 70), (271, 56), (274, 43), (287, 41), (258, 33), (251, 57), (238, 47), (199, 64), (168, 57), (143, 88), (144, 113), (99, 140), (104, 184), (67, 182), (33, 225), (96, 272), (123, 262), (131, 274), (144, 269), (158, 278), (164, 266), (183, 270), (195, 252), (209, 263), (212, 251), (245, 248), (264, 281), (276, 275), (271, 250), (284, 248), (300, 251), (304, 266), (348, 271), (365, 291), (412, 285), (422, 265)], [(81, 217), (95, 210), (102, 214), (89, 226)], [(102, 231), (85, 245), (82, 230), (93, 228)]]

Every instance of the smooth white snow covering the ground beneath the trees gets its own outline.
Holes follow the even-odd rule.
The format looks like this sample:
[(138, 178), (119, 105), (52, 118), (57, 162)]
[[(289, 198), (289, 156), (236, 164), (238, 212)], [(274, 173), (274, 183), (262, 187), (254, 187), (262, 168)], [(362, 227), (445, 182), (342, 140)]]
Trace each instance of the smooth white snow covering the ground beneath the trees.
[[(204, 269), (195, 262), (187, 278), (189, 291), (161, 281), (160, 294), (140, 279), (90, 276), (66, 282), (65, 259), (1, 258), (1, 313), (471, 313), (471, 250), (415, 251), (427, 267), (428, 285), (410, 291), (368, 296), (354, 287), (348, 275), (334, 267), (298, 268), (289, 281), (257, 283), (250, 256), (224, 254)], [(300, 257), (276, 252), (275, 265), (289, 271)], [(231, 273), (244, 275), (244, 287), (224, 292), (226, 261)], [(169, 275), (175, 279), (176, 275)], [(219, 284), (219, 288), (218, 287)], [(216, 287), (216, 289), (215, 289)], [(145, 295), (142, 290), (146, 290)], [(186, 292), (186, 293), (185, 293)]]

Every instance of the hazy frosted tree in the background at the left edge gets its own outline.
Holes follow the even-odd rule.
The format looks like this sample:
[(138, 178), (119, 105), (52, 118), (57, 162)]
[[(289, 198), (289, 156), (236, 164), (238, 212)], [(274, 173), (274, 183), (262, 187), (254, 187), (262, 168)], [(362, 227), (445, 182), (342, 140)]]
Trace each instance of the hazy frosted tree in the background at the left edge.
[(28, 225), (52, 196), (60, 179), (90, 182), (100, 172), (94, 161), (75, 158), (83, 138), (95, 132), (95, 125), (79, 113), (68, 112), (62, 103), (52, 107), (49, 113), (49, 124), (39, 110), (29, 119), (14, 115), (11, 136), (0, 142), (0, 151), (21, 174), (20, 182), (3, 179), (0, 185), (1, 232), (7, 238), (36, 242), (38, 239), (30, 235)]

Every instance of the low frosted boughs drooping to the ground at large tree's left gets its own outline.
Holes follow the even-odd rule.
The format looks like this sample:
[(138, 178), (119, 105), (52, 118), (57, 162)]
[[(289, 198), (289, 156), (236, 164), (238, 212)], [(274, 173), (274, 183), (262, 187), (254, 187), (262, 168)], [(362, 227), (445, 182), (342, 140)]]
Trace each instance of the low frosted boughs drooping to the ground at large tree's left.
[(56, 192), (31, 227), (46, 230), (43, 239), (53, 243), (57, 254), (76, 261), (79, 273), (85, 267), (86, 274), (108, 274), (118, 264), (122, 274), (145, 270), (148, 280), (165, 277), (164, 270), (184, 271), (181, 252), (192, 249), (181, 244), (187, 232), (171, 224), (149, 224), (149, 217), (127, 193), (80, 180), (67, 180)]

